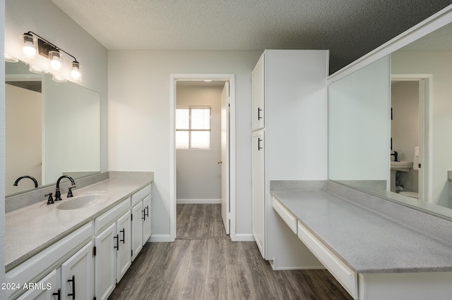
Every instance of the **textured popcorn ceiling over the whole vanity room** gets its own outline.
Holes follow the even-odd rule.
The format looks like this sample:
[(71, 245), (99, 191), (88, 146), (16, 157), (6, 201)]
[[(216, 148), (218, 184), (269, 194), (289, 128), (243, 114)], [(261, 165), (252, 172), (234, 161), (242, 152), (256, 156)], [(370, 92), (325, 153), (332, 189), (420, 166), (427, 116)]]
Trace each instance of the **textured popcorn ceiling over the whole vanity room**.
[(52, 0), (107, 49), (329, 49), (330, 73), (452, 0)]

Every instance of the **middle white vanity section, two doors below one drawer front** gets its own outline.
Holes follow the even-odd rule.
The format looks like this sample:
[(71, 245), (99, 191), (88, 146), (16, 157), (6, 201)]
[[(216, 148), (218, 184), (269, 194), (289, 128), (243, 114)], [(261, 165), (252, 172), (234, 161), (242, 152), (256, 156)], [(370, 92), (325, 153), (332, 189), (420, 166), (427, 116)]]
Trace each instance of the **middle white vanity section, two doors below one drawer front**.
[(95, 295), (107, 299), (131, 265), (130, 199), (95, 218)]

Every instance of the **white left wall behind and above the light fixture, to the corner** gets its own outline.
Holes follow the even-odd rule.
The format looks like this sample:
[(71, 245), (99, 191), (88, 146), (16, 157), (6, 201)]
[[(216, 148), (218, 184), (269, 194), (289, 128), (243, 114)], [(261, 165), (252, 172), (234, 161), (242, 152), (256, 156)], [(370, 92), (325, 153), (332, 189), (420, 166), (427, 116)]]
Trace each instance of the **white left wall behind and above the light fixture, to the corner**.
[(107, 49), (50, 0), (6, 0), (5, 53), (18, 56), (20, 35), (32, 31), (68, 51), (82, 65), (81, 85), (100, 93), (100, 151), (107, 165)]

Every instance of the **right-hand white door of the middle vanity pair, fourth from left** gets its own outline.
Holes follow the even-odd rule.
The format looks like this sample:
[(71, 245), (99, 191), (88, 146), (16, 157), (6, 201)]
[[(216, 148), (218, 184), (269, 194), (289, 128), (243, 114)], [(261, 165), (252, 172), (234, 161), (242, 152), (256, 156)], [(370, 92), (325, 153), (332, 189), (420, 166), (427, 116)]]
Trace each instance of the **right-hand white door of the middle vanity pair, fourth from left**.
[(124, 215), (117, 220), (116, 230), (119, 237), (119, 247), (117, 249), (116, 282), (119, 282), (124, 274), (126, 274), (126, 271), (129, 269), (132, 263), (130, 211), (124, 213)]

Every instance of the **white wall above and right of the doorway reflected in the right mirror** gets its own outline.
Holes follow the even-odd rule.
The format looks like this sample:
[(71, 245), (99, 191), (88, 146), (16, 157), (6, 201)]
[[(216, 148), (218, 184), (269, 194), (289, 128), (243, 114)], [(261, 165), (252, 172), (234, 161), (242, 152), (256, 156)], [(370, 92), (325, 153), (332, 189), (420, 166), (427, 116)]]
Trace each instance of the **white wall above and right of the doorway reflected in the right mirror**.
[(452, 74), (446, 67), (452, 51), (396, 51), (391, 54), (393, 74), (432, 74), (432, 203), (451, 207), (447, 171), (452, 170)]

